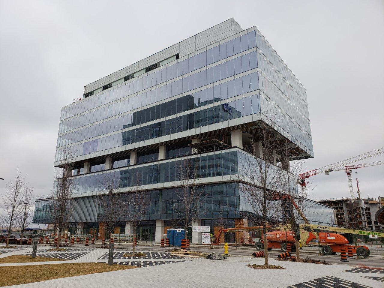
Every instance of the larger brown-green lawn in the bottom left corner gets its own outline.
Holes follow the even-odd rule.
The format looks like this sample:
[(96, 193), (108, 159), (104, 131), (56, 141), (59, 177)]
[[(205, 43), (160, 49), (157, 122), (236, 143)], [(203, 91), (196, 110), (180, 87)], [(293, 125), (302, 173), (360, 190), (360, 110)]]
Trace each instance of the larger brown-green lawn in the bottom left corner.
[(57, 278), (137, 268), (106, 263), (63, 263), (0, 267), (0, 286), (33, 283)]

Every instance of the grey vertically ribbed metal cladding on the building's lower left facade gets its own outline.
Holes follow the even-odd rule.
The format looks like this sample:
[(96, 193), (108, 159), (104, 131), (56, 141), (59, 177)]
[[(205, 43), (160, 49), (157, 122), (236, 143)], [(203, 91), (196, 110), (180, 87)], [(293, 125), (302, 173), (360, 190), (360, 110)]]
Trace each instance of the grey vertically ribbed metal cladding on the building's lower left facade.
[(97, 222), (98, 196), (74, 198), (71, 222)]

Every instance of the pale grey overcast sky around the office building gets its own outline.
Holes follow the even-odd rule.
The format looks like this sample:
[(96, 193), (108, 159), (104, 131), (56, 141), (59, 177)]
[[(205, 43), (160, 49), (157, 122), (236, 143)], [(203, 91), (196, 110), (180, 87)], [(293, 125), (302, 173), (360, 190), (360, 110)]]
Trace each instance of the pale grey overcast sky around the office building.
[[(36, 195), (51, 193), (60, 111), (86, 84), (231, 17), (256, 26), (306, 88), (306, 170), (384, 147), (382, 0), (0, 4), (0, 193), (17, 167)], [(356, 171), (363, 197), (384, 197), (384, 165)], [(349, 196), (344, 172), (310, 182), (311, 199)]]

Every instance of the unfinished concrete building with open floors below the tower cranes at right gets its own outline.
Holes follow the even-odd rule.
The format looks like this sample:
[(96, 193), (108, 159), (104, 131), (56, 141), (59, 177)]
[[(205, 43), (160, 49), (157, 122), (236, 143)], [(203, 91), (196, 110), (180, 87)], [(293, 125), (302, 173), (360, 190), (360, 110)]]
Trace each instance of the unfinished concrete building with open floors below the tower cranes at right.
[(316, 202), (335, 209), (338, 227), (369, 230), (365, 203), (363, 200), (350, 198), (321, 199)]

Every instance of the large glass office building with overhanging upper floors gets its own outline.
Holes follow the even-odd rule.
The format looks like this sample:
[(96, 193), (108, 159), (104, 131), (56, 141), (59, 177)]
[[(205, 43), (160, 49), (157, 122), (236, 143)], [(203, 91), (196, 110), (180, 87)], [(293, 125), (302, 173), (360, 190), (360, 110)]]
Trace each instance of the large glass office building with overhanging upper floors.
[[(143, 223), (162, 231), (178, 217), (182, 159), (196, 164), (204, 183), (195, 225), (218, 218), (243, 225), (249, 207), (236, 182), (239, 165), (268, 113), (278, 115), (276, 130), (293, 147), (288, 160), (313, 157), (305, 88), (256, 27), (243, 30), (233, 18), (86, 85), (61, 111), (55, 157), (59, 167), (63, 151), (75, 155), (73, 225), (100, 221), (100, 177), (117, 177), (124, 201), (139, 174), (149, 205)], [(34, 223), (51, 221), (50, 201), (36, 200)], [(330, 225), (334, 211), (312, 203), (308, 218)]]

